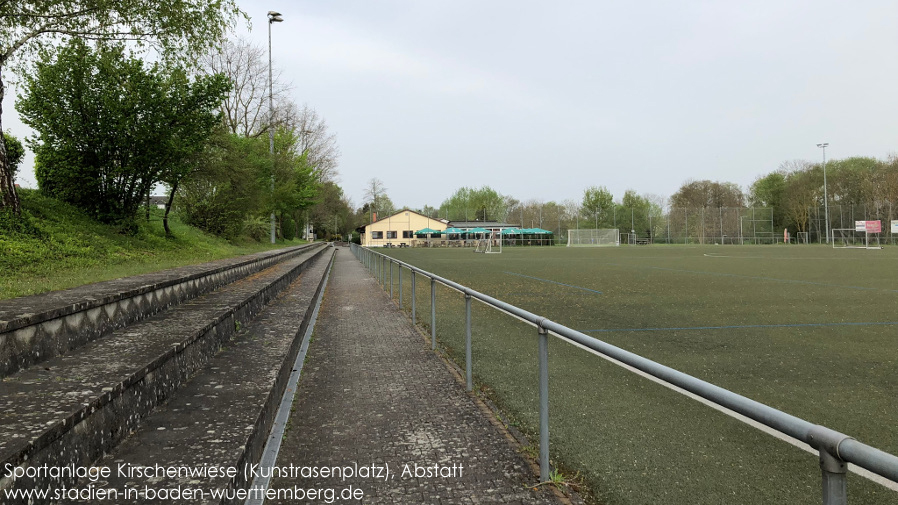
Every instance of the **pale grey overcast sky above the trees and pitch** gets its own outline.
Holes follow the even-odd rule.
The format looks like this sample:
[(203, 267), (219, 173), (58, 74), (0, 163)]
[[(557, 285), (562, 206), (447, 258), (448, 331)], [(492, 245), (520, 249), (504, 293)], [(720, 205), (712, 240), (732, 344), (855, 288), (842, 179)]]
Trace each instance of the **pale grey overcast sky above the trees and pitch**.
[[(266, 12), (283, 15), (275, 67), (337, 134), (356, 206), (373, 177), (412, 208), (460, 186), (619, 199), (688, 179), (747, 188), (819, 160), (819, 142), (828, 158), (898, 151), (894, 0), (238, 3), (263, 47)], [(3, 105), (4, 128), (27, 134)]]

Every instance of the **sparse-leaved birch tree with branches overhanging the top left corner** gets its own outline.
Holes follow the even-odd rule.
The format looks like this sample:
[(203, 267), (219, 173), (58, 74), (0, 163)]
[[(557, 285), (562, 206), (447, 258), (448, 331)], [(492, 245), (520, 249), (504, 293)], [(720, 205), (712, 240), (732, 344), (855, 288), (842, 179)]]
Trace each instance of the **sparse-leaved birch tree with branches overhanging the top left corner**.
[[(152, 45), (170, 61), (188, 62), (215, 46), (237, 17), (236, 0), (15, 0), (0, 1), (0, 103), (3, 71), (22, 70), (42, 49), (65, 39)], [(0, 118), (2, 118), (0, 108)], [(2, 121), (0, 121), (2, 131)], [(0, 209), (19, 214), (19, 200), (0, 142)]]

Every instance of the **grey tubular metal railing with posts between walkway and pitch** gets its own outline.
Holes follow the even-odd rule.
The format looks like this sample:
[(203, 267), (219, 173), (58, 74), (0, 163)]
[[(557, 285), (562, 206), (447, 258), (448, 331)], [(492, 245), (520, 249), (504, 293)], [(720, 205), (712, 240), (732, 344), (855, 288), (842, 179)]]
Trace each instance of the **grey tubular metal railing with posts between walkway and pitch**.
[[(466, 374), (467, 387), (471, 390), (471, 358), (470, 358), (470, 339), (471, 339), (471, 317), (470, 317), (470, 299), (477, 299), (480, 302), (490, 305), (493, 308), (512, 315), (521, 321), (531, 324), (537, 328), (540, 336), (540, 474), (543, 481), (549, 477), (549, 456), (548, 456), (548, 353), (545, 349), (546, 333), (551, 332), (556, 337), (578, 344), (580, 346), (592, 349), (593, 351), (607, 356), (616, 361), (629, 365), (646, 374), (652, 375), (661, 381), (689, 391), (699, 397), (710, 402), (730, 409), (734, 412), (742, 414), (745, 417), (753, 419), (760, 424), (784, 433), (792, 438), (805, 442), (820, 455), (820, 467), (822, 472), (822, 492), (824, 505), (836, 505), (847, 503), (846, 492), (846, 463), (853, 463), (861, 468), (869, 470), (886, 479), (898, 482), (898, 456), (876, 449), (864, 443), (858, 442), (854, 438), (831, 430), (825, 426), (817, 425), (791, 414), (787, 414), (781, 410), (775, 409), (763, 403), (757, 402), (750, 398), (746, 398), (737, 393), (733, 393), (727, 389), (715, 386), (709, 382), (677, 371), (668, 366), (654, 362), (650, 359), (643, 358), (637, 354), (625, 351), (619, 347), (603, 342), (597, 338), (591, 337), (579, 331), (568, 328), (567, 326), (558, 324), (545, 317), (534, 314), (532, 312), (521, 309), (509, 303), (498, 300), (489, 295), (475, 291), (471, 288), (463, 286), (457, 282), (451, 281), (439, 275), (422, 270), (414, 265), (410, 265), (404, 261), (391, 258), (387, 255), (372, 251), (367, 248), (352, 244), (351, 247), (356, 257), (362, 261), (368, 268), (375, 269), (385, 284), (386, 268), (384, 263), (390, 263), (390, 271), (392, 273), (392, 265), (395, 263), (401, 270), (407, 268), (412, 273), (412, 282), (415, 275), (420, 274), (431, 280), (431, 339), (432, 345), (436, 345), (436, 324), (435, 324), (435, 295), (434, 283), (440, 283), (444, 286), (458, 291), (465, 295), (466, 299)], [(392, 275), (389, 279), (392, 286)], [(386, 286), (384, 286), (386, 287)], [(545, 388), (545, 392), (543, 391)], [(545, 396), (544, 396), (545, 395)], [(543, 405), (545, 404), (545, 406)]]

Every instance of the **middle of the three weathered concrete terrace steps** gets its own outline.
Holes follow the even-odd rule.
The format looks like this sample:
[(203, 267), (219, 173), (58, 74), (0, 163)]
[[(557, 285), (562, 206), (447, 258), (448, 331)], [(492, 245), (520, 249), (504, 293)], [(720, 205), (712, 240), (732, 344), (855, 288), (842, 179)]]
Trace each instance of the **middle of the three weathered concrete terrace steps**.
[[(218, 291), (4, 378), (0, 468), (86, 465), (100, 457), (326, 249), (301, 251)], [(63, 484), (71, 482), (0, 479), (0, 489)]]

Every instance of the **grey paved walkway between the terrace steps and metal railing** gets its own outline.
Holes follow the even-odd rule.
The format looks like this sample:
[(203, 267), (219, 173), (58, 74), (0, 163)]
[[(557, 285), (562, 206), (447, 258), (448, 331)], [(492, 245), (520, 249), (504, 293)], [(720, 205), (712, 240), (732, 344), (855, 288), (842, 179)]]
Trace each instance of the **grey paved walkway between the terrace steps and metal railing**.
[[(532, 489), (522, 456), (347, 248), (337, 253), (277, 467), (319, 474), (273, 479), (274, 490), (321, 490), (301, 503), (558, 503), (546, 486)], [(363, 498), (345, 499), (352, 492)]]

